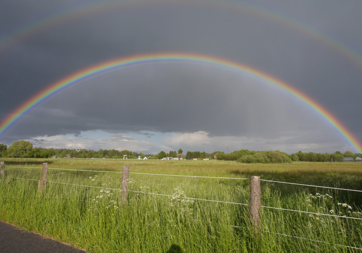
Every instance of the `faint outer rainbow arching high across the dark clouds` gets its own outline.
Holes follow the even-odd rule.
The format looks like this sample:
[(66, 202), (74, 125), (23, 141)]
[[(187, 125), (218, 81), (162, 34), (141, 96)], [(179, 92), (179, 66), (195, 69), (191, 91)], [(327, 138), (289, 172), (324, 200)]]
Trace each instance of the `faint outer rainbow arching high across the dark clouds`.
[[(166, 1), (166, 0), (153, 0), (153, 1), (114, 1), (114, 0), (105, 0), (105, 1), (96, 1), (89, 3), (76, 3), (68, 7), (57, 10), (51, 14), (43, 16), (37, 20), (29, 21), (28, 24), (20, 26), (17, 29), (13, 29), (7, 35), (0, 37), (0, 53), (5, 51), (7, 47), (11, 46), (14, 42), (20, 41), (32, 36), (36, 33), (39, 33), (43, 30), (54, 27), (62, 22), (69, 22), (73, 19), (79, 19), (80, 17), (90, 15), (92, 13), (98, 13), (101, 11), (107, 11), (113, 8), (137, 8), (147, 5), (154, 4), (176, 4), (178, 1)], [(232, 12), (244, 12), (246, 14), (253, 14), (260, 18), (266, 19), (268, 21), (273, 21), (275, 24), (279, 24), (303, 34), (307, 37), (313, 38), (313, 40), (320, 42), (324, 46), (328, 47), (334, 53), (340, 55), (343, 58), (348, 59), (352, 62), (358, 69), (362, 69), (362, 57), (357, 51), (350, 49), (346, 45), (338, 42), (336, 39), (327, 36), (327, 34), (319, 31), (307, 24), (304, 24), (300, 21), (297, 21), (291, 17), (283, 16), (280, 13), (272, 12), (268, 9), (262, 9), (260, 7), (227, 0), (207, 0), (207, 1), (193, 1), (193, 0), (183, 0), (182, 4), (193, 4), (193, 5), (209, 5), (215, 8), (226, 8), (228, 11)]]

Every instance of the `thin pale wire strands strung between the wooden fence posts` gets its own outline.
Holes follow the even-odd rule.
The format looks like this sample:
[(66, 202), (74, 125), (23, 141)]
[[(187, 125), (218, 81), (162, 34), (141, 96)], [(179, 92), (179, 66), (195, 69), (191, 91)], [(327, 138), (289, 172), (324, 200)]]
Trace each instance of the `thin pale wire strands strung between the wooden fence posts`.
[[(9, 168), (26, 168), (26, 169), (42, 169), (42, 168), (40, 168), (40, 167), (23, 167), (23, 166), (21, 166), (21, 167), (19, 167), (19, 166), (6, 166), (6, 167), (9, 167)], [(48, 167), (47, 169), (69, 170), (69, 171), (101, 172), (101, 173), (103, 173), (103, 172), (104, 172), (104, 173), (122, 173), (122, 171), (76, 170), (76, 169), (60, 169), (60, 168), (50, 168), (50, 167)], [(249, 178), (208, 177), (208, 176), (190, 176), (190, 175), (172, 175), (172, 174), (136, 173), (136, 172), (129, 172), (129, 174), (157, 175), (157, 176), (169, 176), (169, 177), (188, 177), (188, 178), (215, 178), (215, 179), (249, 180)], [(24, 179), (24, 180), (38, 181), (38, 180), (36, 180), (36, 179), (26, 179), (26, 178), (16, 178), (16, 179)], [(336, 187), (326, 187), (326, 186), (316, 186), (316, 185), (310, 185), (310, 184), (299, 184), (299, 183), (272, 181), (272, 180), (265, 180), (265, 179), (260, 179), (260, 181), (264, 181), (264, 182), (274, 182), (274, 183), (285, 183), (285, 184), (292, 184), (292, 185), (298, 185), (298, 186), (307, 186), (307, 187), (320, 187), (320, 188), (328, 188), (328, 189), (332, 189), (332, 190), (345, 190), (345, 191), (353, 191), (353, 192), (362, 192), (362, 191), (360, 191), (360, 190), (353, 190), (353, 189), (336, 188)], [(122, 191), (122, 189), (118, 189), (118, 188), (97, 187), (97, 186), (89, 186), (89, 185), (81, 185), (81, 184), (70, 184), (70, 183), (55, 182), (55, 181), (46, 181), (46, 182), (56, 183), (56, 184), (64, 184), (64, 185), (71, 185), (71, 186), (79, 186), (79, 187), (101, 188), (101, 189), (106, 189), (106, 190)], [(174, 195), (159, 194), (159, 193), (152, 193), (152, 192), (133, 191), (133, 190), (128, 190), (128, 191), (130, 191), (130, 192), (136, 192), (136, 193), (139, 193), (139, 194), (150, 194), (150, 195), (156, 195), (156, 196), (174, 197)], [(218, 202), (218, 203), (226, 203), (226, 204), (236, 204), (236, 205), (242, 205), (242, 206), (250, 206), (250, 204), (246, 204), (246, 203), (225, 202), (225, 201), (220, 201), (220, 200), (190, 198), (190, 197), (185, 197), (185, 196), (180, 196), (180, 198), (183, 198), (183, 199), (191, 199), (191, 200), (207, 201), (207, 202)], [(291, 209), (286, 209), (286, 208), (277, 208), (277, 207), (268, 207), (268, 206), (260, 206), (260, 207), (262, 207), (262, 208), (267, 208), (267, 209), (274, 209), (274, 210), (282, 210), (282, 211), (290, 211), (290, 212), (299, 212), (299, 213), (308, 213), (308, 214), (323, 215), (323, 216), (332, 216), (332, 217), (337, 217), (337, 218), (345, 218), (345, 219), (353, 219), (353, 220), (362, 220), (361, 218), (349, 217), (349, 216), (345, 216), (345, 215), (344, 215), (344, 216), (339, 216), (339, 215), (331, 215), (331, 214), (325, 214), (325, 213), (307, 212), (307, 211), (301, 211), (301, 210), (291, 210)], [(231, 227), (236, 227), (236, 228), (237, 228), (237, 226), (233, 226), (233, 225), (232, 225)], [(271, 232), (269, 232), (269, 231), (263, 231), (263, 232), (271, 233)], [(357, 248), (357, 247), (353, 247), (353, 246), (347, 246), (347, 245), (341, 245), (341, 244), (332, 244), (332, 243), (329, 243), (329, 242), (324, 242), (324, 241), (319, 241), (319, 240), (313, 240), (313, 239), (308, 239), (308, 238), (303, 238), (303, 237), (298, 237), (298, 236), (285, 235), (285, 234), (282, 234), (282, 233), (275, 233), (275, 234), (276, 234), (276, 235), (279, 235), (279, 236), (292, 237), (292, 238), (295, 238), (295, 239), (309, 240), (309, 241), (313, 241), (313, 242), (322, 242), (322, 243), (326, 243), (326, 244), (330, 244), (330, 245), (342, 246), (342, 247), (346, 247), (346, 248), (350, 248), (350, 249), (362, 250), (362, 248)]]

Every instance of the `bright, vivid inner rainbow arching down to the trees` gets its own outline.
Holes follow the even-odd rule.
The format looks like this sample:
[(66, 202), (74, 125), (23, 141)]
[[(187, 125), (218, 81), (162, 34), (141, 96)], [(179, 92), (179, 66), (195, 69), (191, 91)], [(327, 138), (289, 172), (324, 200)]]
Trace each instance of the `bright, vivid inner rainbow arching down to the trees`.
[(59, 94), (69, 87), (75, 86), (89, 80), (96, 76), (104, 75), (106, 73), (116, 71), (119, 69), (125, 69), (129, 67), (137, 67), (147, 64), (169, 64), (169, 63), (187, 63), (194, 65), (205, 65), (215, 67), (217, 69), (224, 69), (231, 72), (243, 72), (252, 79), (259, 80), (263, 83), (269, 84), (273, 87), (280, 88), (283, 91), (288, 92), (295, 98), (307, 104), (315, 112), (321, 115), (328, 121), (344, 138), (348, 141), (353, 148), (362, 153), (362, 145), (353, 134), (332, 115), (324, 109), (316, 101), (303, 94), (301, 91), (290, 86), (289, 84), (269, 75), (260, 70), (253, 69), (250, 66), (242, 65), (237, 62), (232, 62), (226, 59), (211, 57), (208, 55), (199, 54), (185, 54), (185, 53), (156, 53), (156, 54), (141, 54), (132, 55), (129, 57), (117, 58), (111, 61), (102, 62), (97, 65), (93, 65), (86, 69), (77, 71), (67, 77), (51, 84), (37, 95), (33, 96), (25, 103), (21, 104), (15, 111), (13, 111), (7, 118), (0, 123), (0, 136), (2, 136), (9, 128), (11, 128), (17, 121), (21, 119), (26, 113), (30, 112), (44, 101), (50, 99), (52, 96)]

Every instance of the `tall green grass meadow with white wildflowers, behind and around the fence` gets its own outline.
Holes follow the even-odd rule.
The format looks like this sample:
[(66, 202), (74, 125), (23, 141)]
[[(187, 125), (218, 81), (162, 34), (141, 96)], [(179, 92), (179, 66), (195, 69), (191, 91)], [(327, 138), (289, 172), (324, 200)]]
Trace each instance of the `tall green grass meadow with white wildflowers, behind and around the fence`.
[[(0, 220), (89, 253), (360, 252), (362, 248), (362, 220), (348, 218), (362, 219), (361, 192), (278, 183), (362, 190), (362, 163), (1, 160), (5, 174), (0, 180)], [(48, 182), (46, 190), (38, 193), (43, 162), (48, 163)], [(126, 205), (120, 202), (122, 174), (93, 172), (119, 172), (123, 165), (130, 166)], [(249, 206), (235, 204), (249, 204), (249, 180), (213, 178), (249, 176), (276, 181), (261, 182), (264, 207), (259, 233), (251, 227)]]

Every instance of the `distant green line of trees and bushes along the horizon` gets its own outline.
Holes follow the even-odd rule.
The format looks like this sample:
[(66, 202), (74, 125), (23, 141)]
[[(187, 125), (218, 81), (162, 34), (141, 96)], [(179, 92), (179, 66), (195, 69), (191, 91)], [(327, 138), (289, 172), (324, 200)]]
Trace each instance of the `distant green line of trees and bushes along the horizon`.
[(132, 152), (130, 150), (116, 150), (116, 149), (100, 149), (98, 151), (87, 149), (54, 149), (54, 148), (33, 148), (33, 144), (29, 141), (14, 141), (8, 148), (7, 145), (0, 143), (0, 157), (20, 157), (20, 158), (107, 158), (107, 159), (162, 159), (164, 157), (183, 157), (186, 159), (218, 159), (225, 161), (238, 161), (243, 163), (289, 163), (291, 161), (304, 161), (304, 162), (331, 162), (343, 161), (345, 157), (362, 157), (360, 153), (353, 153), (346, 151), (341, 153), (336, 151), (334, 153), (314, 153), (314, 152), (302, 152), (287, 154), (280, 151), (251, 151), (247, 149), (237, 150), (231, 153), (224, 153), (215, 151), (212, 153), (200, 152), (200, 151), (187, 151), (186, 156), (183, 154), (183, 150), (179, 149), (170, 150), (168, 153), (160, 151), (156, 155), (143, 154)]

